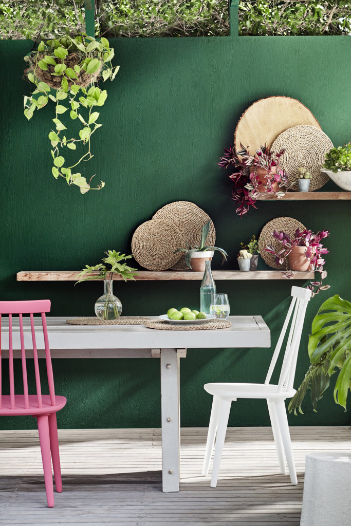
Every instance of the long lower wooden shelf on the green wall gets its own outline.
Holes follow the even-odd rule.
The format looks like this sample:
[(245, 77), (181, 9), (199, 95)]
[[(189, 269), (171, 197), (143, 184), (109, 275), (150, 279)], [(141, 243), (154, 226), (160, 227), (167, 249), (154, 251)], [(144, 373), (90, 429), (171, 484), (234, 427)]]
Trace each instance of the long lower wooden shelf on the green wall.
[[(137, 281), (193, 281), (201, 280), (203, 278), (203, 272), (192, 272), (190, 270), (176, 271), (176, 270), (163, 270), (161, 272), (155, 272), (152, 270), (139, 270), (139, 275), (135, 276)], [(17, 272), (17, 281), (76, 281), (77, 270), (58, 270), (58, 271), (22, 271)], [(288, 279), (284, 275), (286, 274), (280, 270), (252, 270), (249, 272), (242, 272), (240, 270), (213, 270), (213, 277), (216, 281), (218, 280), (230, 280), (230, 279)], [(313, 279), (314, 272), (294, 272), (294, 275), (289, 279)], [(114, 280), (121, 281), (121, 276), (114, 275)]]

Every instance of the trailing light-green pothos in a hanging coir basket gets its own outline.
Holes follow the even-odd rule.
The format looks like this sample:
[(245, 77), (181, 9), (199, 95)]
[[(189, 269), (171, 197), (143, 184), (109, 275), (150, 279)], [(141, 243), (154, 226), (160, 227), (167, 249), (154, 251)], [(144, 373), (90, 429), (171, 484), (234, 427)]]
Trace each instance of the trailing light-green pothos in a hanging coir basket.
[[(98, 87), (98, 80), (102, 77), (105, 82), (108, 78), (115, 78), (119, 66), (112, 67), (113, 57), (114, 50), (106, 38), (98, 42), (86, 35), (42, 41), (36, 51), (25, 57), (29, 63), (25, 75), (35, 84), (35, 89), (31, 96), (24, 97), (24, 114), (29, 120), (35, 109), (46, 106), (49, 99), (55, 103), (55, 128), (48, 135), (53, 148), (52, 174), (56, 179), (64, 177), (68, 185), (80, 187), (82, 194), (92, 189), (94, 176), (87, 181), (75, 168), (81, 161), (93, 157), (91, 137), (102, 126), (97, 123), (99, 112), (96, 109), (103, 106), (107, 98), (106, 90)], [(67, 111), (72, 120), (79, 119), (82, 123), (79, 138), (71, 138), (67, 129), (69, 124), (61, 120), (61, 115)], [(65, 148), (75, 150), (79, 143), (87, 151), (77, 162), (65, 166)], [(104, 186), (101, 181), (94, 189)]]

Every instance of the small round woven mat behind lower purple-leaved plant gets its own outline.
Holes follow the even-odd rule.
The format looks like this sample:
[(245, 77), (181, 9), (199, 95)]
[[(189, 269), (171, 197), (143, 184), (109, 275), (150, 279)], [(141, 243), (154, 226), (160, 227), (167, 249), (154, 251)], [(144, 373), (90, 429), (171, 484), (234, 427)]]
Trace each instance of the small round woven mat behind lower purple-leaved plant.
[(300, 230), (306, 229), (306, 227), (300, 223), (300, 221), (297, 221), (293, 217), (276, 217), (275, 219), (272, 219), (272, 221), (268, 221), (268, 223), (263, 227), (259, 235), (258, 242), (260, 247), (260, 256), (266, 262), (268, 267), (275, 268), (277, 270), (287, 269), (287, 265), (277, 265), (275, 262), (275, 256), (273, 256), (273, 254), (269, 254), (265, 250), (269, 244), (273, 246), (276, 252), (282, 250), (283, 248), (283, 245), (280, 243), (280, 241), (272, 236), (273, 230), (276, 230), (277, 232), (283, 230), (285, 234), (293, 237), (297, 228)]

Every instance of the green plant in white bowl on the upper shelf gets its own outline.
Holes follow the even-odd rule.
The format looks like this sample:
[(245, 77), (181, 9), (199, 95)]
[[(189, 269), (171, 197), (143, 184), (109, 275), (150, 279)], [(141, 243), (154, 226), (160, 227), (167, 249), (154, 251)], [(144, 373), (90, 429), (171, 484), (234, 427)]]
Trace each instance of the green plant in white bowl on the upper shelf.
[(351, 141), (325, 154), (322, 171), (340, 188), (351, 191)]

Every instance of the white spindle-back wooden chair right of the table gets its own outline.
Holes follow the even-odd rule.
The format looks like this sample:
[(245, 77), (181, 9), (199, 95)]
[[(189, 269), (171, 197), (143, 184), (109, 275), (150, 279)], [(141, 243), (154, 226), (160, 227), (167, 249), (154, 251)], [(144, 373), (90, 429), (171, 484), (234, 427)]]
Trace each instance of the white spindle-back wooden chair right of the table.
[[(284, 450), (288, 464), (290, 480), (297, 484), (293, 450), (290, 440), (288, 420), (286, 416), (286, 398), (294, 396), (296, 390), (293, 388), (298, 348), (305, 319), (308, 301), (311, 291), (301, 287), (292, 287), (293, 299), (290, 304), (282, 332), (280, 333), (272, 361), (268, 369), (265, 383), (206, 383), (204, 389), (213, 395), (212, 410), (208, 426), (203, 475), (207, 476), (212, 450), (216, 440), (215, 454), (213, 459), (211, 487), (217, 485), (220, 459), (222, 458), (223, 445), (227, 431), (230, 406), (238, 398), (265, 398), (269, 411), (270, 423), (272, 424), (273, 437), (277, 450), (279, 468), (281, 473), (286, 473)], [(289, 336), (287, 339), (282, 370), (280, 372), (278, 385), (270, 382), (272, 373), (277, 363), (279, 351), (282, 348), (284, 337), (291, 321)]]

